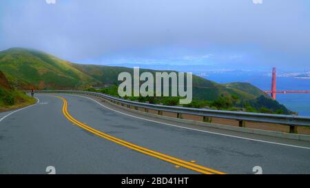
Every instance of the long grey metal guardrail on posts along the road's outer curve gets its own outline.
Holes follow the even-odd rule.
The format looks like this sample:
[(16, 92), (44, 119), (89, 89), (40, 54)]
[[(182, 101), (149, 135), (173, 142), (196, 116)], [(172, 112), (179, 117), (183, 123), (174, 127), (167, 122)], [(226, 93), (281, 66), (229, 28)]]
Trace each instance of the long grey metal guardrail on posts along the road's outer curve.
[(240, 127), (245, 127), (245, 121), (254, 121), (262, 123), (276, 123), (280, 125), (289, 125), (291, 133), (297, 133), (297, 126), (310, 127), (310, 117), (307, 116), (293, 116), (293, 115), (279, 115), (279, 114), (262, 114), (251, 112), (234, 112), (225, 110), (214, 109), (196, 109), (190, 107), (176, 107), (167, 105), (154, 105), (149, 103), (139, 103), (136, 101), (128, 101), (123, 98), (117, 98), (107, 94), (101, 94), (96, 92), (84, 92), (74, 90), (40, 90), (36, 91), (40, 93), (74, 93), (74, 94), (88, 94), (93, 96), (99, 96), (105, 98), (112, 103), (120, 103), (121, 105), (127, 105), (127, 107), (133, 106), (135, 108), (142, 107), (145, 112), (148, 109), (158, 111), (158, 115), (162, 115), (163, 112), (172, 112), (178, 114), (178, 118), (181, 118), (181, 114), (191, 114), (196, 116), (203, 116), (204, 121), (207, 121), (209, 117), (234, 119), (239, 121)]

